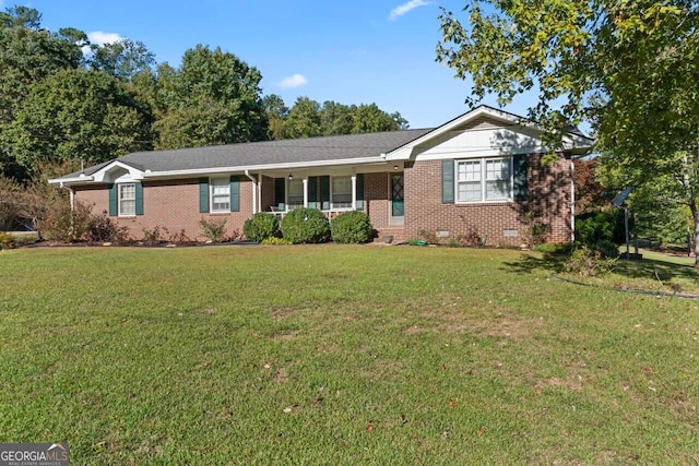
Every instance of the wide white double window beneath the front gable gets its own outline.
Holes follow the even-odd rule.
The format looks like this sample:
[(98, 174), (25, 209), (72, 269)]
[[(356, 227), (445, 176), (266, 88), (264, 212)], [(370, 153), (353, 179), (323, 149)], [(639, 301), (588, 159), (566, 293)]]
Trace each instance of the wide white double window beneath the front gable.
[(512, 158), (457, 162), (457, 202), (512, 199)]

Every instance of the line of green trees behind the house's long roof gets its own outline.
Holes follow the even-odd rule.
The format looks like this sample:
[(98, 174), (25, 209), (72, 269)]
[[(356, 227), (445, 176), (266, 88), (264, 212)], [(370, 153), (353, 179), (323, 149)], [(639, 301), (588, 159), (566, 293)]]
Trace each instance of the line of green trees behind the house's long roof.
[(198, 45), (181, 63), (157, 63), (138, 40), (91, 44), (42, 14), (0, 12), (0, 174), (19, 181), (42, 167), (96, 164), (130, 152), (407, 128), (376, 104), (288, 108), (263, 95), (262, 74), (234, 53)]

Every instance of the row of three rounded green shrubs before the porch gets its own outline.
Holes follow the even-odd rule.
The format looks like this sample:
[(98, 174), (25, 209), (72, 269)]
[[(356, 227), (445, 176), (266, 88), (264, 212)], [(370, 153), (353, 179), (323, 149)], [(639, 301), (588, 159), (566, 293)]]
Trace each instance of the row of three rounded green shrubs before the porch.
[(329, 241), (363, 243), (371, 239), (374, 227), (364, 212), (351, 211), (328, 222), (317, 208), (297, 208), (282, 219), (269, 212), (254, 214), (246, 220), (242, 232), (251, 241), (262, 242), (269, 238), (284, 238), (293, 244)]

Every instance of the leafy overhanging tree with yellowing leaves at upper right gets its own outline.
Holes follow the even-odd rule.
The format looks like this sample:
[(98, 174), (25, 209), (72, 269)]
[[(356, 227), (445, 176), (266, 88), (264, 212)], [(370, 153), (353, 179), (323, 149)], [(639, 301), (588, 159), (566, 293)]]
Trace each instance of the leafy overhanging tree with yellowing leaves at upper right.
[(530, 116), (548, 129), (552, 152), (570, 121), (591, 120), (599, 150), (629, 168), (630, 182), (660, 170), (685, 180), (699, 238), (696, 1), (473, 0), (465, 11), (467, 26), (442, 10), (437, 55), (473, 80), (467, 103), (537, 91)]

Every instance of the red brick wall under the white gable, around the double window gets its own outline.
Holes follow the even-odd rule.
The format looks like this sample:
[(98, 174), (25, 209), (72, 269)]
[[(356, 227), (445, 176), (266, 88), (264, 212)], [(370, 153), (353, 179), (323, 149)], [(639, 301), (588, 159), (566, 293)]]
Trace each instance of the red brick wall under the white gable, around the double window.
[[(441, 160), (415, 163), (404, 172), (405, 235), (417, 238), (418, 231), (425, 229), (449, 231), (449, 238), (458, 238), (475, 231), (487, 244), (517, 246), (525, 242), (525, 212), (533, 207), (542, 212), (540, 220), (548, 226), (547, 241), (569, 241), (570, 159), (561, 158), (548, 168), (540, 162), (538, 156), (529, 160), (528, 201), (484, 204), (442, 204)], [(506, 237), (506, 229), (518, 230), (518, 236)]]

